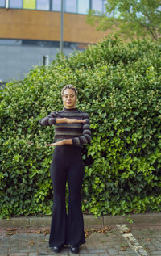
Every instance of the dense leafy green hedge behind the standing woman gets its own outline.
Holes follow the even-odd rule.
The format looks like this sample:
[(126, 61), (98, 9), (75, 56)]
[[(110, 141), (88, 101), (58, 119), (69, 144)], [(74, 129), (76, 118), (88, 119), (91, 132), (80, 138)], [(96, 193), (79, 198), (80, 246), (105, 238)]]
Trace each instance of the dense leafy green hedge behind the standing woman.
[(52, 213), (53, 127), (67, 83), (79, 92), (93, 139), (84, 153), (83, 211), (97, 216), (161, 210), (161, 45), (113, 38), (35, 67), (1, 90), (0, 216)]

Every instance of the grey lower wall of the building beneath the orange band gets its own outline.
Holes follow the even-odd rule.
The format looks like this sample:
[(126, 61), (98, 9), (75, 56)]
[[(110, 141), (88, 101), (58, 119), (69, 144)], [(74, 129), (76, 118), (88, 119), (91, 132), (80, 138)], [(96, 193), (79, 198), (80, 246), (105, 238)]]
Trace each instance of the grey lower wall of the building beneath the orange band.
[[(69, 55), (74, 49), (65, 47), (64, 53)], [(0, 80), (8, 82), (12, 78), (23, 79), (33, 65), (43, 65), (43, 55), (49, 56), (52, 62), (59, 48), (26, 46), (26, 45), (0, 45)]]

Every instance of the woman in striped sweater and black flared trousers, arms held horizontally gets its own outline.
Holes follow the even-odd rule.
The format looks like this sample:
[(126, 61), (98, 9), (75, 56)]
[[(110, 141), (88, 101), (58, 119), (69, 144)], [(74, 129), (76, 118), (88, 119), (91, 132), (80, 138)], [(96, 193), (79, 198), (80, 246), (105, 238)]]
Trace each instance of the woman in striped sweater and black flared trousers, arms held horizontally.
[[(71, 245), (72, 253), (79, 252), (85, 243), (84, 220), (81, 210), (81, 187), (84, 177), (82, 145), (90, 143), (89, 115), (76, 108), (77, 92), (72, 85), (64, 86), (63, 111), (54, 111), (40, 120), (41, 125), (55, 125), (50, 174), (54, 192), (49, 246), (57, 253), (62, 246)], [(68, 214), (65, 206), (65, 187), (68, 181)]]

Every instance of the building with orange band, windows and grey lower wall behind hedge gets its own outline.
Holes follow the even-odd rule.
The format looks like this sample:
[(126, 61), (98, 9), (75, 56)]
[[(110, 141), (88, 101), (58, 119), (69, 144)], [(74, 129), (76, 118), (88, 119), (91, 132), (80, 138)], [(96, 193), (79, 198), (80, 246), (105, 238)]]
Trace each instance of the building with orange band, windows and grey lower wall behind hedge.
[[(105, 12), (105, 0), (64, 0), (64, 54), (96, 44), (107, 32), (86, 23), (89, 9)], [(61, 0), (0, 0), (0, 81), (22, 79), (43, 56), (60, 52)]]

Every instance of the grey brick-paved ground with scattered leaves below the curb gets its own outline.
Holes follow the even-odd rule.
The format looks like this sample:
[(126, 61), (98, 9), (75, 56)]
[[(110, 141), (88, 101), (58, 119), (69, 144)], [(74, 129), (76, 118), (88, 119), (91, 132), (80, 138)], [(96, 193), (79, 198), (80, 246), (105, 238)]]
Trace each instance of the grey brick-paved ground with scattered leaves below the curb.
[[(161, 222), (95, 225), (85, 229), (85, 235), (82, 256), (161, 256)], [(0, 256), (52, 256), (48, 238), (49, 226), (0, 228)], [(64, 246), (60, 255), (73, 254)]]

